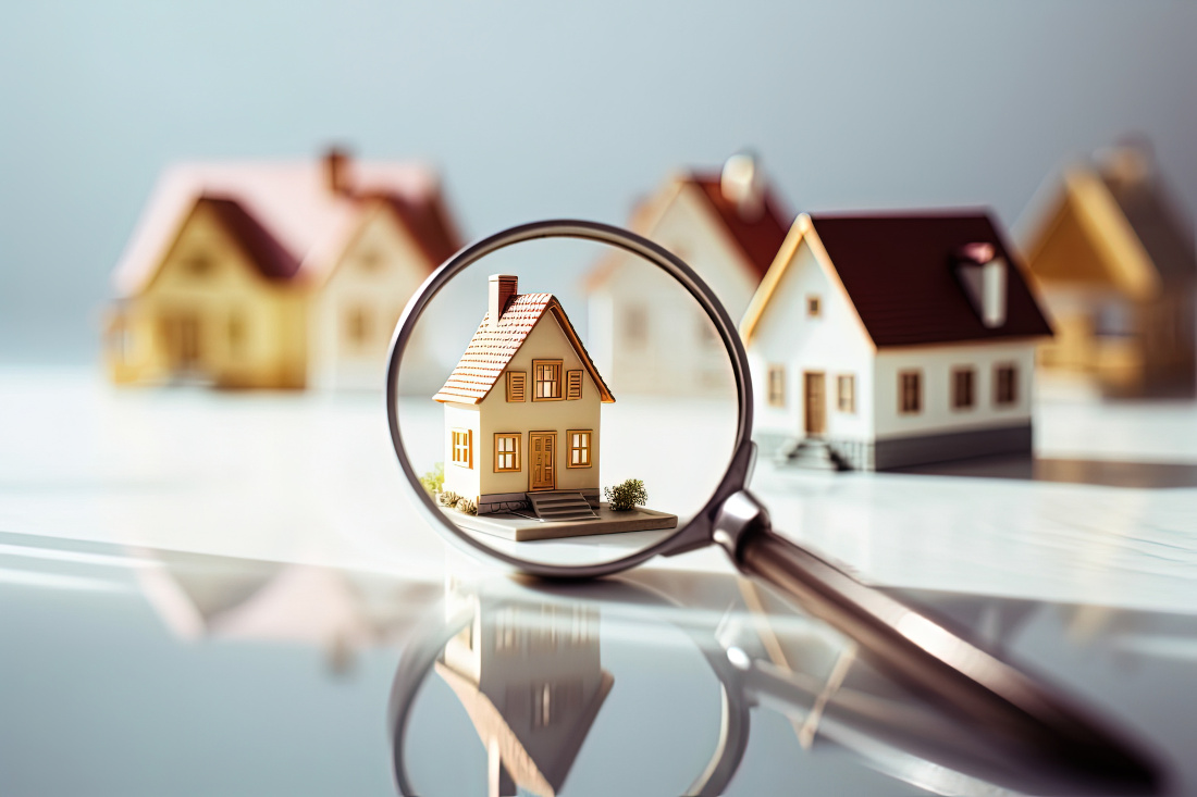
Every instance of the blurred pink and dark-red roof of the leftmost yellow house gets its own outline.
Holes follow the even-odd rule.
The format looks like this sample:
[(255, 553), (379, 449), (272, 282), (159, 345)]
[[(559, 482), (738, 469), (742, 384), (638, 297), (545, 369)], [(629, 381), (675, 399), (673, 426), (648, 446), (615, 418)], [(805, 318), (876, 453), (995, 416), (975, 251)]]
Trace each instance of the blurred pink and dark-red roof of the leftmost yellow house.
[[(140, 292), (157, 273), (201, 199), (226, 202), (223, 220), (236, 217), (259, 241), (251, 254), (274, 250), (262, 263), (273, 274), (294, 261), (288, 278), (321, 281), (361, 224), (363, 209), (384, 200), (407, 226), (430, 268), (456, 249), (457, 233), (444, 207), (436, 174), (411, 163), (347, 160), (346, 190), (329, 189), (326, 163), (194, 163), (168, 168), (158, 180), (114, 273), (117, 293)], [(236, 206), (238, 211), (230, 209)], [(253, 220), (253, 225), (245, 219)], [(271, 239), (263, 243), (262, 238)], [(285, 253), (285, 257), (280, 255)], [(263, 264), (265, 263), (265, 264)]]

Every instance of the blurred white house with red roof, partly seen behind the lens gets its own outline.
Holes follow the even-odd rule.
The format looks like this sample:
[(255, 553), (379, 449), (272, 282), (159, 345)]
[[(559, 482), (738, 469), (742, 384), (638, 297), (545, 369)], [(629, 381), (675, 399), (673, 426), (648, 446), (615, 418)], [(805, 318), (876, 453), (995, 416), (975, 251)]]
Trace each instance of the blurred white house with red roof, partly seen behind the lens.
[[(722, 174), (669, 180), (636, 211), (630, 226), (691, 266), (736, 320), (792, 218), (757, 163), (741, 154)], [(585, 288), (590, 351), (620, 391), (734, 393), (715, 327), (669, 276), (620, 251), (596, 266)]]

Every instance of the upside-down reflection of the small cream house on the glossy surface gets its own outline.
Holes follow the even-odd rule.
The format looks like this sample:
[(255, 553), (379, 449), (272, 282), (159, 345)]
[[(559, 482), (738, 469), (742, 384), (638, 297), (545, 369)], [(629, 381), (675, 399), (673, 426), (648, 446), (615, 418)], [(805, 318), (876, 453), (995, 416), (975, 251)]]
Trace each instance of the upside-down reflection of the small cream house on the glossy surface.
[(602, 669), (597, 612), (543, 606), (528, 614), (479, 612), (445, 645), (436, 671), (486, 748), (490, 793), (553, 797), (615, 680)]

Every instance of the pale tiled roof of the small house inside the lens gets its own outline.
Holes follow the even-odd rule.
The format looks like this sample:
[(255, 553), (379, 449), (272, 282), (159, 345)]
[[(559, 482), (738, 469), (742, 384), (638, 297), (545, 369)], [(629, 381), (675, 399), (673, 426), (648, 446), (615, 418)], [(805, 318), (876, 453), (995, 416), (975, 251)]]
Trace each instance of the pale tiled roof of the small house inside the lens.
[(598, 388), (602, 401), (604, 403), (615, 401), (565, 310), (552, 293), (519, 293), (511, 297), (497, 326), (491, 326), (490, 312), (482, 316), (482, 323), (478, 326), (469, 346), (466, 347), (466, 353), (461, 355), (444, 387), (432, 396), (433, 401), (464, 404), (481, 402), (546, 312), (557, 318), (582, 365)]

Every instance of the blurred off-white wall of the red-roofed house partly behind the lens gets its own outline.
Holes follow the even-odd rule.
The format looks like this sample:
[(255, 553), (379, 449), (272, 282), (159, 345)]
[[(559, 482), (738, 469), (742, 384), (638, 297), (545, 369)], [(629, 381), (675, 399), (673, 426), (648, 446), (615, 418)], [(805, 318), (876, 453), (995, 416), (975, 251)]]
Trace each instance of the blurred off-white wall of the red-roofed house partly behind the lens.
[[(733, 322), (757, 287), (723, 223), (699, 189), (682, 185), (648, 237), (691, 266)], [(715, 327), (673, 278), (634, 256), (590, 296), (588, 349), (621, 394), (734, 395), (728, 354)]]

